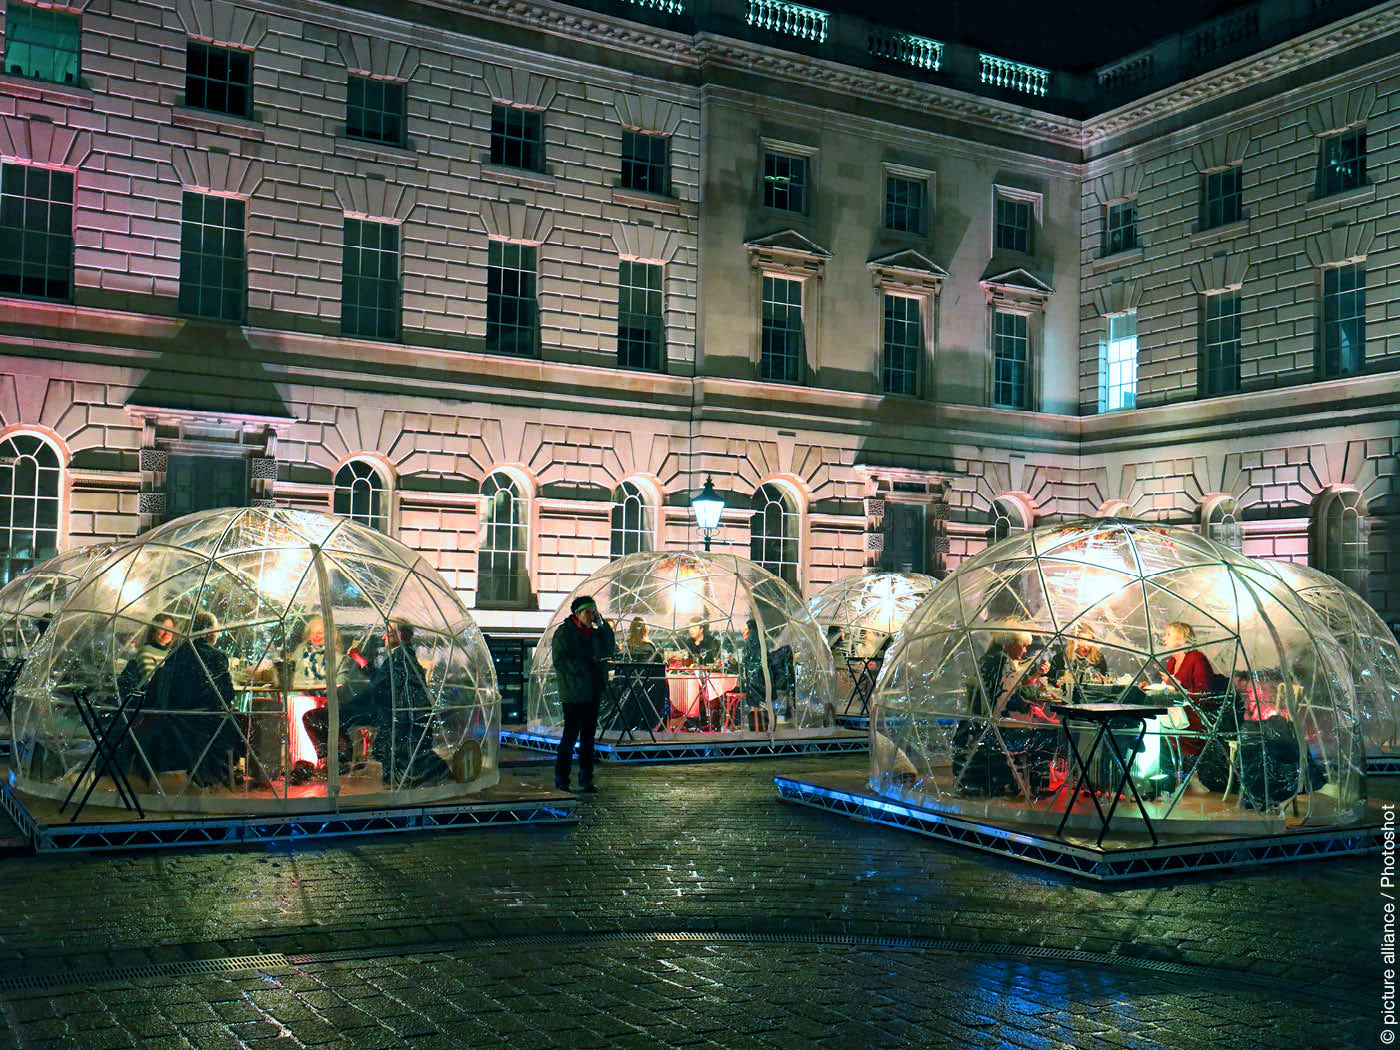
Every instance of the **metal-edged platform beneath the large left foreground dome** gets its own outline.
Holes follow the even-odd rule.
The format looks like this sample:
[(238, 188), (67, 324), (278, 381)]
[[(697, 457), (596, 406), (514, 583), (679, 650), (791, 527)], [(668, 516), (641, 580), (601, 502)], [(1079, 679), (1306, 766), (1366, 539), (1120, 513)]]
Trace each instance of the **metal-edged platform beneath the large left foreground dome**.
[[(36, 799), (15, 792), (8, 784), (0, 784), (0, 808), (18, 825), (35, 853), (300, 843), (351, 834), (570, 823), (578, 819), (575, 812), (578, 802), (573, 797), (554, 791), (531, 791), (511, 798), (500, 788), (459, 802), (351, 809), (337, 813), (102, 820), (87, 819), (87, 812), (92, 809), (90, 806), (77, 823), (69, 823), (66, 819), (42, 820), (31, 808), (35, 802)], [(104, 816), (109, 813), (104, 812)]]

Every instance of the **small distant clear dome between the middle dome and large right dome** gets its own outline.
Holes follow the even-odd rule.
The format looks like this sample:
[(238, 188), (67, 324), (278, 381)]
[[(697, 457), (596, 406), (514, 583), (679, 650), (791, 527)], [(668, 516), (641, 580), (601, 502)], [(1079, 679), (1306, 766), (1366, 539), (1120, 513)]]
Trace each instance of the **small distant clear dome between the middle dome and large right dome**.
[(878, 672), (904, 620), (937, 585), (934, 577), (921, 573), (860, 573), (823, 587), (808, 599), (808, 612), (836, 662), (837, 707), (844, 714), (860, 708), (857, 678), (862, 662), (865, 673)]

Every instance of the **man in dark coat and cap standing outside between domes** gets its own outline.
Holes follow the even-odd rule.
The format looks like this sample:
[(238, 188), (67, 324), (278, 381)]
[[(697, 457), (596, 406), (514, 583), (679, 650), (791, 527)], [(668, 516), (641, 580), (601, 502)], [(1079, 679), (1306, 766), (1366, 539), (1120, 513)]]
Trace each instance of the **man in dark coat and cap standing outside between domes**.
[(598, 613), (598, 603), (580, 595), (568, 606), (570, 617), (554, 630), (550, 654), (554, 680), (564, 706), (564, 735), (554, 759), (554, 787), (568, 791), (568, 769), (578, 741), (578, 785), (594, 785), (594, 736), (598, 732), (598, 707), (608, 687), (608, 665), (616, 650), (612, 627)]

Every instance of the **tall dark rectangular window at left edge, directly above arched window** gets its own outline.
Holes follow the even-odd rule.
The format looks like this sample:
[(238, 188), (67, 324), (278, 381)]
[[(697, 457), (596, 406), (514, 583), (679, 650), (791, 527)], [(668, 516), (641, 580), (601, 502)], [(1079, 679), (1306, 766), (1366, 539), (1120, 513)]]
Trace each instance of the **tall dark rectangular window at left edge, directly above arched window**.
[(0, 295), (73, 295), (73, 172), (0, 167)]

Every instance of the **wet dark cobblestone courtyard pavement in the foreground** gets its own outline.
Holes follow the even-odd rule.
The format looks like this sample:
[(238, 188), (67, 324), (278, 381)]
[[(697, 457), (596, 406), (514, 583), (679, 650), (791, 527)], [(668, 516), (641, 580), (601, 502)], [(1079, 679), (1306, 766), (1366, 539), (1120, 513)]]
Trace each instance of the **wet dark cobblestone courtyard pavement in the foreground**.
[(0, 1050), (1378, 1044), (1376, 858), (1102, 889), (776, 798), (862, 763), (605, 766), (566, 829), (8, 858), (0, 979), (50, 983), (0, 991)]

